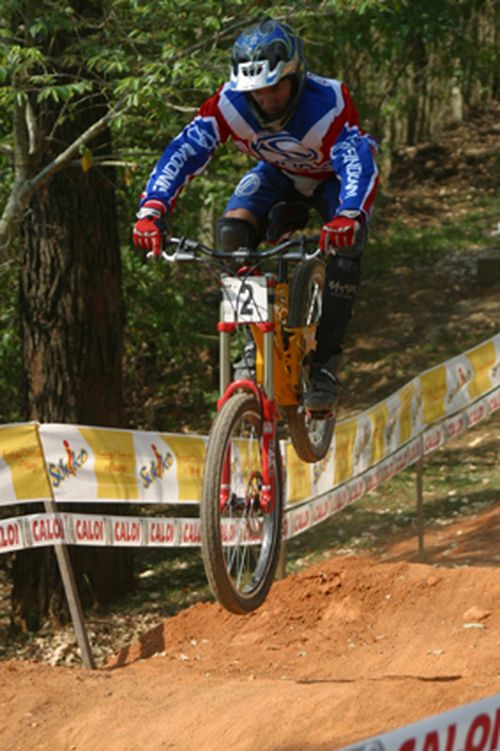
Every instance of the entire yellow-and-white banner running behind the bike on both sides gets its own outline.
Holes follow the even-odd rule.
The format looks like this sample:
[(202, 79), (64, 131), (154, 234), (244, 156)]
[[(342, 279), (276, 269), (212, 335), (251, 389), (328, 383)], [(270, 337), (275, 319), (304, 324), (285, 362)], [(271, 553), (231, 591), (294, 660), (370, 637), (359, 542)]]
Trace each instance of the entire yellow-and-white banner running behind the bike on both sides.
[[(414, 441), (419, 437), (423, 455), (428, 454), (499, 407), (497, 334), (422, 373), (388, 399), (339, 422), (322, 461), (304, 463), (288, 444), (283, 452), (287, 505), (302, 505), (361, 476), (367, 488), (373, 489), (400, 471), (399, 452), (408, 446), (415, 451)], [(73, 425), (2, 426), (0, 505), (47, 499), (198, 503), (206, 440)], [(256, 442), (235, 442), (233, 475), (253, 466), (257, 452)], [(299, 527), (302, 516), (301, 512), (294, 522)]]

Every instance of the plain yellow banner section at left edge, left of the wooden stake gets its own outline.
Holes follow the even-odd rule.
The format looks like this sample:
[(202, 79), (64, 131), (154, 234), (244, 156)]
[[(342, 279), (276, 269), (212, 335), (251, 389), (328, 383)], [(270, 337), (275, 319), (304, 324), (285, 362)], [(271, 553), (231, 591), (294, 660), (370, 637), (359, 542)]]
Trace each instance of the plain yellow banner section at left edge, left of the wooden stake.
[(37, 423), (0, 427), (0, 505), (52, 498)]

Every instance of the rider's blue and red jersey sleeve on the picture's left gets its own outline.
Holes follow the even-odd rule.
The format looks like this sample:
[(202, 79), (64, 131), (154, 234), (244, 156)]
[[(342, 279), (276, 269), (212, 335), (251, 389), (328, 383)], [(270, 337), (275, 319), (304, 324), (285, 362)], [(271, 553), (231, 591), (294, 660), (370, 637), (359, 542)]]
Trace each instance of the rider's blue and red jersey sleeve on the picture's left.
[(169, 143), (149, 177), (141, 206), (154, 200), (171, 211), (182, 188), (205, 169), (217, 147), (227, 140), (219, 92), (201, 105), (193, 120)]

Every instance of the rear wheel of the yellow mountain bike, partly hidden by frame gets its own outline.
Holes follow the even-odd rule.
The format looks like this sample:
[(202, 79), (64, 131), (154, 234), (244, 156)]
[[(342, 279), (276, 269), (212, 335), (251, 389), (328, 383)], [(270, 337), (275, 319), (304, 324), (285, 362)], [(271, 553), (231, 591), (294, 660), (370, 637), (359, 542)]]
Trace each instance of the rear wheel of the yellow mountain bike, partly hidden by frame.
[[(324, 286), (323, 261), (315, 258), (295, 268), (288, 296), (287, 325), (290, 328), (319, 323)], [(306, 356), (300, 367), (302, 393), (305, 393), (309, 386), (310, 357)], [(310, 463), (323, 459), (330, 447), (335, 418), (318, 420), (307, 415), (301, 405), (285, 407), (285, 414), (297, 456)]]

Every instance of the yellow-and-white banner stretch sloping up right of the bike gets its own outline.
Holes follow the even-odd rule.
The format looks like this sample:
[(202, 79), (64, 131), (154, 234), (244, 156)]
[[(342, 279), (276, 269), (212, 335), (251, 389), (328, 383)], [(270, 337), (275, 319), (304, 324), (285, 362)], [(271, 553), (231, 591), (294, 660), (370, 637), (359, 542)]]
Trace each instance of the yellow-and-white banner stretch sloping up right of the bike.
[[(287, 503), (342, 485), (423, 435), (424, 454), (500, 407), (500, 334), (425, 371), (389, 398), (339, 422), (323, 462), (301, 462), (287, 447)], [(385, 469), (385, 467), (384, 467)]]

